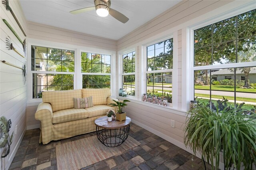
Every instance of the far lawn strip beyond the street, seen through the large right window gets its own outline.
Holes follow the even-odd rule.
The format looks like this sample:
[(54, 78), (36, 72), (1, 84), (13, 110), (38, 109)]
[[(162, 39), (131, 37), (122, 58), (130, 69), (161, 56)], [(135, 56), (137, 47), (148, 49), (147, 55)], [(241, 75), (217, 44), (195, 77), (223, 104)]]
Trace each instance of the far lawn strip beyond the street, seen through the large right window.
[[(249, 92), (256, 93), (256, 87), (252, 87), (253, 89), (240, 89), (240, 87), (236, 87), (237, 92)], [(202, 86), (195, 85), (195, 89), (201, 90), (210, 90), (210, 86)], [(212, 85), (212, 90), (222, 90), (222, 91), (234, 91), (234, 86), (232, 85)]]

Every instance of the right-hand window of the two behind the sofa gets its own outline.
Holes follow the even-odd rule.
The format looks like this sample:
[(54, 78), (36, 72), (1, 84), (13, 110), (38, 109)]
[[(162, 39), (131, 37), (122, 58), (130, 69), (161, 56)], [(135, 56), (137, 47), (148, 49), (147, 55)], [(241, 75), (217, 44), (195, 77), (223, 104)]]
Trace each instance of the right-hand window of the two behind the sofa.
[(81, 52), (82, 88), (110, 88), (111, 56)]

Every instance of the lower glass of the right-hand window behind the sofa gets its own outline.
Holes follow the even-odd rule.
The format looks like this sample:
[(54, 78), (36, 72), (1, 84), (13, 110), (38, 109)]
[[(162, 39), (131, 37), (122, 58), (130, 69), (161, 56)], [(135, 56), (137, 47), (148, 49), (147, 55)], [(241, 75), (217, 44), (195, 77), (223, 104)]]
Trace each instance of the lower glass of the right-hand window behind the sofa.
[(83, 75), (83, 88), (110, 88), (110, 75)]

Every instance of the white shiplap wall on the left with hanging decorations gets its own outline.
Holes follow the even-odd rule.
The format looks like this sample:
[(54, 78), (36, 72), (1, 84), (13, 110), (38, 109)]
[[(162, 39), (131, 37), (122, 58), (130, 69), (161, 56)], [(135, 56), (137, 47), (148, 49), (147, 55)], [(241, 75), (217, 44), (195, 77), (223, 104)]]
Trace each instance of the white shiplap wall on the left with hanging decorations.
[[(15, 16), (18, 18), (23, 30), (27, 32), (27, 22), (20, 3), (16, 0), (11, 0), (9, 1), (9, 5)], [(0, 60), (5, 60), (19, 67), (23, 67), (24, 63), (26, 63), (26, 58), (21, 57), (14, 50), (8, 50), (5, 42), (7, 36), (10, 36), (13, 46), (24, 55), (22, 44), (2, 19), (5, 19), (12, 26), (22, 41), (26, 38), (10, 11), (7, 11), (1, 3)], [(24, 132), (26, 131), (26, 90), (27, 88), (26, 84), (24, 85), (22, 70), (0, 62), (0, 115), (1, 117), (5, 116), (7, 119), (11, 119), (12, 127), (9, 134), (14, 132), (10, 154), (6, 158), (0, 160), (0, 167), (2, 167), (3, 170), (8, 169), (10, 166), (24, 136)], [(2, 154), (2, 152), (3, 149), (1, 148), (0, 154)]]

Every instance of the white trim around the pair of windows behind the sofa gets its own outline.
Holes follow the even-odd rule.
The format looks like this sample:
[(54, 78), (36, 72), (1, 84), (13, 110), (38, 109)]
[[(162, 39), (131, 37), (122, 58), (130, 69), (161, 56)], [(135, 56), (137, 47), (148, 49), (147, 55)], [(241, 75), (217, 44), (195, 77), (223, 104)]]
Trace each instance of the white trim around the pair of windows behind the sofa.
[[(116, 51), (94, 48), (94, 47), (84, 47), (79, 45), (72, 45), (66, 43), (58, 43), (58, 42), (50, 42), (46, 40), (38, 40), (33, 38), (28, 38), (27, 44), (27, 102), (28, 106), (38, 105), (42, 102), (42, 99), (32, 99), (32, 73), (43, 73), (43, 71), (31, 71), (31, 45), (41, 46), (41, 47), (49, 47), (49, 48), (57, 48), (57, 49), (67, 49), (75, 51), (74, 56), (74, 64), (75, 64), (75, 72), (55, 72), (55, 71), (44, 71), (44, 73), (60, 73), (60, 74), (74, 74), (74, 89), (82, 89), (82, 73), (81, 73), (81, 52), (87, 51), (90, 53), (100, 53), (111, 56), (111, 73), (107, 73), (110, 75), (110, 91), (112, 96), (116, 96), (116, 85), (114, 80), (114, 73), (116, 72)], [(114, 65), (114, 67), (112, 67)], [(105, 73), (100, 73), (103, 75)]]

